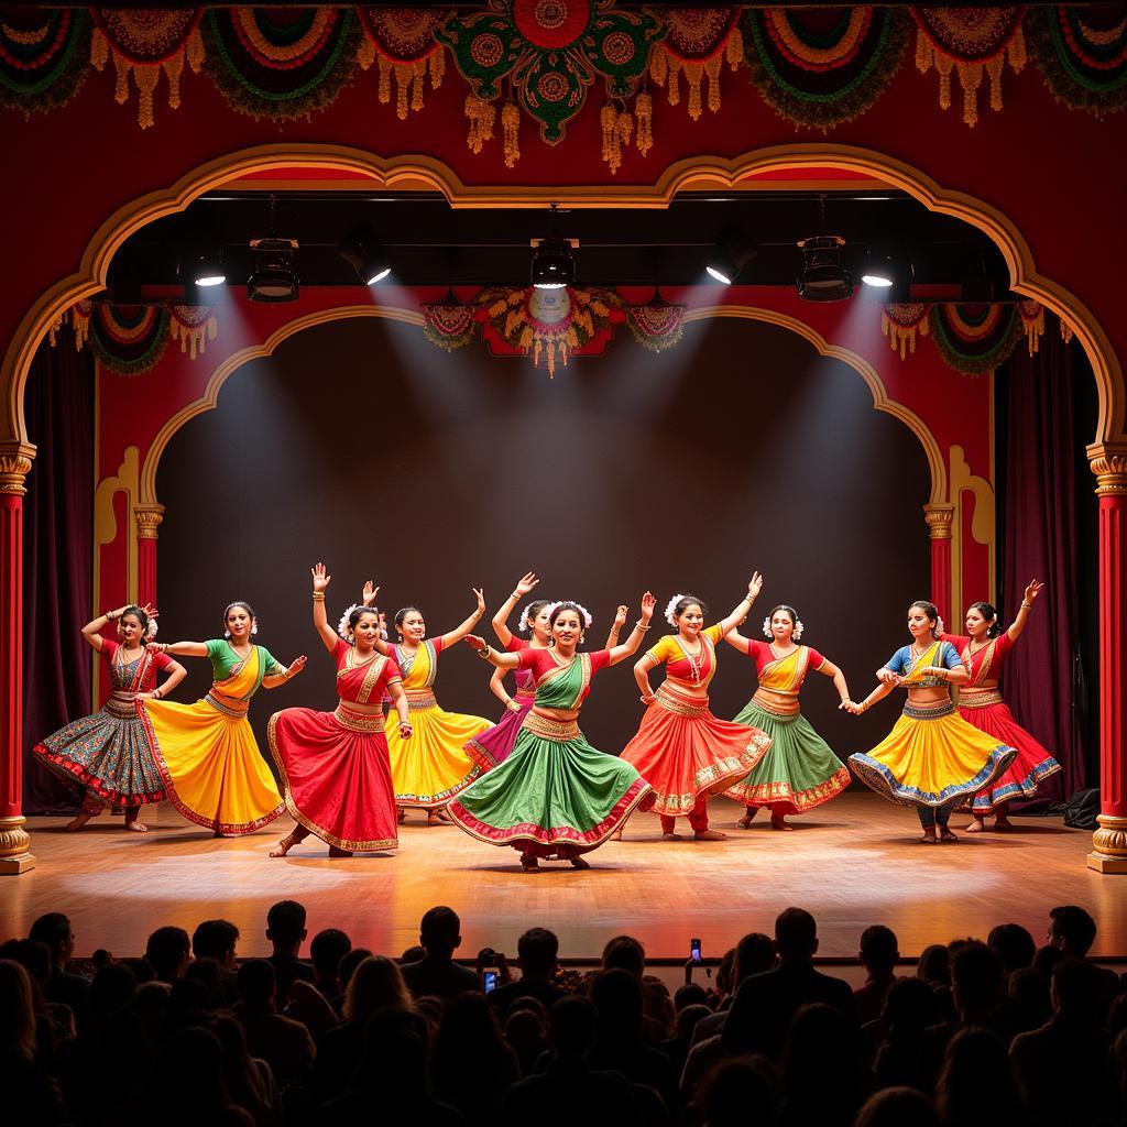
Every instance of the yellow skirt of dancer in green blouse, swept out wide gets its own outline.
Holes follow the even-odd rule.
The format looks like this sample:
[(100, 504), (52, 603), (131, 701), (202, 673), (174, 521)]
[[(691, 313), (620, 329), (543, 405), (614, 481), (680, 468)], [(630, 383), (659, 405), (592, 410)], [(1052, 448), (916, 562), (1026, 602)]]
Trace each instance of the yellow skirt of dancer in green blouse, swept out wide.
[(141, 719), (168, 797), (186, 818), (221, 834), (249, 834), (284, 809), (246, 713), (140, 701)]

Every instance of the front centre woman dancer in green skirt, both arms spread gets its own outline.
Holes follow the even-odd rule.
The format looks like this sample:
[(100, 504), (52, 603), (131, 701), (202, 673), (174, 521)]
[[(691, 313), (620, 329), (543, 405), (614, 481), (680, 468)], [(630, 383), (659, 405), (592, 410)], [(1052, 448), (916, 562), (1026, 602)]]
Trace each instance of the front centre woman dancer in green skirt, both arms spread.
[(468, 834), (520, 850), (525, 871), (539, 868), (541, 857), (589, 868), (580, 854), (602, 845), (649, 796), (650, 786), (629, 763), (592, 747), (576, 720), (591, 678), (638, 649), (653, 614), (654, 596), (647, 591), (630, 637), (594, 654), (576, 653), (591, 625), (591, 615), (578, 603), (553, 605), (551, 649), (500, 654), (482, 638), (467, 638), (492, 665), (529, 669), (536, 689), (513, 754), (447, 808)]

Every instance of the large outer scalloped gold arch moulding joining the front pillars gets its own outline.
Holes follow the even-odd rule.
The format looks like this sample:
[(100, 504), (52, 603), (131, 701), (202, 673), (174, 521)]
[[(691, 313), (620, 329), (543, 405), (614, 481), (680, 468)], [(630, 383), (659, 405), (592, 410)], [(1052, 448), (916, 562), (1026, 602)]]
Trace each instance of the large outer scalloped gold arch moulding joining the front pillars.
[(983, 231), (999, 247), (1017, 292), (1051, 309), (1079, 337), (1091, 363), (1099, 394), (1097, 442), (1115, 442), (1127, 425), (1124, 373), (1107, 334), (1090, 309), (1067, 289), (1039, 274), (1024, 238), (999, 208), (966, 193), (942, 188), (919, 169), (894, 157), (843, 144), (786, 144), (753, 150), (734, 159), (700, 156), (677, 161), (653, 184), (642, 186), (579, 185), (573, 187), (467, 186), (444, 162), (426, 156), (382, 158), (362, 149), (325, 144), (270, 144), (218, 157), (185, 174), (170, 188), (152, 192), (119, 207), (95, 232), (79, 268), (51, 286), (25, 314), (0, 369), (3, 414), (0, 436), (27, 442), (24, 389), (32, 357), (51, 325), (74, 302), (105, 286), (109, 261), (136, 230), (184, 211), (205, 192), (234, 176), (277, 168), (330, 168), (365, 174), (394, 189), (431, 187), (454, 207), (666, 207), (690, 187), (738, 188), (748, 176), (809, 167), (867, 174), (907, 192), (929, 210), (953, 215)]

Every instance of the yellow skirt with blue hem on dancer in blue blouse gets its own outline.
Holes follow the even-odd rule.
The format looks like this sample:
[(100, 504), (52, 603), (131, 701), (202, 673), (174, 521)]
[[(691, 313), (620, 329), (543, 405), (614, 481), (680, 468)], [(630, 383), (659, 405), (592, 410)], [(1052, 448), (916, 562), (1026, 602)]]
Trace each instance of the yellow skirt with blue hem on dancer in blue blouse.
[(1017, 754), (967, 724), (953, 704), (906, 704), (885, 739), (868, 754), (851, 755), (849, 765), (861, 782), (894, 802), (946, 806), (990, 786)]

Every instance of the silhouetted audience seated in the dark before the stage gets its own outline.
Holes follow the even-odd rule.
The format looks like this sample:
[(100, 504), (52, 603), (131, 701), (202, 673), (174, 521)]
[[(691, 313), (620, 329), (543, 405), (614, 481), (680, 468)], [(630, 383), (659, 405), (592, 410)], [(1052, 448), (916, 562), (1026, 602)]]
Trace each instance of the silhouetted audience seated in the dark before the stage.
[(671, 999), (636, 939), (585, 979), (542, 928), (521, 935), (521, 977), (486, 996), (454, 961), (449, 907), (402, 967), (336, 929), (310, 966), (293, 900), (270, 908), (268, 959), (236, 967), (238, 929), (208, 920), (190, 943), (158, 928), (143, 959), (104, 952), (91, 982), (53, 913), (0, 944), (3, 1106), (46, 1127), (140, 1109), (172, 1127), (1124, 1127), (1127, 993), (1090, 961), (1085, 911), (1049, 919), (1041, 951), (1005, 923), (929, 948), (904, 978), (896, 935), (867, 928), (852, 991), (815, 968), (816, 923), (788, 908), (773, 940), (733, 949), (718, 994), (686, 980)]

